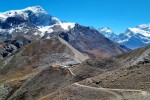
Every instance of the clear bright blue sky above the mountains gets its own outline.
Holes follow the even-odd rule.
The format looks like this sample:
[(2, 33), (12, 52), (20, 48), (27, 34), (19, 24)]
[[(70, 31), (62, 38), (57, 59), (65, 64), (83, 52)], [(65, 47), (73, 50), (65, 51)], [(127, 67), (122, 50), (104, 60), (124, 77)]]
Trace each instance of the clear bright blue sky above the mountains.
[(108, 26), (117, 34), (150, 23), (150, 0), (1, 0), (0, 12), (36, 5), (63, 21)]

